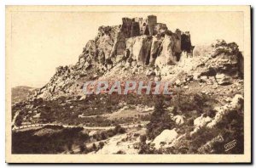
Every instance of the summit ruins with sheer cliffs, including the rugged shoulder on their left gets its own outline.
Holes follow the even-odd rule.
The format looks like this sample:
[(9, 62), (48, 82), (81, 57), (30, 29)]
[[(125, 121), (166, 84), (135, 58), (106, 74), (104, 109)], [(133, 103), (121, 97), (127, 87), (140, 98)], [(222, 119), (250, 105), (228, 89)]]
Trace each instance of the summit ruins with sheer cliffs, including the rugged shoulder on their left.
[[(106, 59), (129, 57), (139, 64), (154, 65), (156, 59), (161, 64), (176, 64), (181, 53), (191, 53), (189, 31), (169, 31), (166, 24), (157, 23), (154, 15), (143, 18), (123, 18), (123, 24), (101, 26), (96, 37), (96, 58), (105, 64)], [(115, 30), (115, 31), (113, 31)]]

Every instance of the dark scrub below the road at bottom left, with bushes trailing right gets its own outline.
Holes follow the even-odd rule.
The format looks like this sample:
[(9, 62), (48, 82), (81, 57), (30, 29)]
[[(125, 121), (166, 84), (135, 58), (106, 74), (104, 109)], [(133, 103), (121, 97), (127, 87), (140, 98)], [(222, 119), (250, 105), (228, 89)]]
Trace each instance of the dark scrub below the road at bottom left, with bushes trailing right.
[[(36, 130), (12, 132), (12, 154), (74, 154), (74, 147), (79, 148), (79, 154), (88, 154), (103, 148), (103, 140), (122, 133), (125, 133), (125, 128), (119, 125), (107, 131), (96, 132), (92, 136), (84, 132), (82, 127), (63, 126), (44, 126)], [(93, 144), (89, 147), (87, 143)]]

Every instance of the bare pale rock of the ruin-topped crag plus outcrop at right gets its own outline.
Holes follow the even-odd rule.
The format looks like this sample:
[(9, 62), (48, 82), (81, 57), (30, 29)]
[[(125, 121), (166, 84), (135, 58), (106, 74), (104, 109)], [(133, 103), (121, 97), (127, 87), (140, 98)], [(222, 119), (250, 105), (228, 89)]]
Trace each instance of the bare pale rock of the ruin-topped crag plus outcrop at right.
[(216, 85), (230, 85), (230, 79), (243, 76), (243, 57), (236, 43), (218, 40), (208, 48), (208, 54), (191, 58), (193, 49), (189, 31), (172, 32), (153, 15), (146, 19), (123, 18), (122, 25), (100, 26), (96, 38), (86, 43), (77, 64), (58, 67), (34, 97), (80, 95), (84, 81), (112, 78), (116, 72), (125, 74), (125, 70), (124, 77), (140, 78), (140, 74), (146, 74), (145, 67), (154, 72), (146, 77), (155, 81), (176, 80), (179, 73), (191, 70), (196, 80), (208, 83), (212, 77), (211, 83)]

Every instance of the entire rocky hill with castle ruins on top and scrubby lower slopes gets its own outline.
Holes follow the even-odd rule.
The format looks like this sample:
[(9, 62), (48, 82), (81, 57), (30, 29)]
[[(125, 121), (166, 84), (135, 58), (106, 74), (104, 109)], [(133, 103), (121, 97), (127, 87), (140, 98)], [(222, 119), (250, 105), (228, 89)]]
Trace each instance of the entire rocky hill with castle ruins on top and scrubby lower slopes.
[[(99, 27), (76, 64), (58, 67), (35, 95), (12, 106), (14, 136), (47, 132), (53, 145), (67, 129), (58, 126), (68, 125), (79, 126), (76, 136), (54, 153), (242, 154), (243, 56), (236, 43), (192, 46), (189, 31), (168, 30), (154, 15), (122, 21)], [(173, 94), (83, 94), (85, 81), (131, 79), (172, 81)], [(19, 132), (40, 123), (58, 126)], [(236, 148), (224, 147), (234, 139)]]

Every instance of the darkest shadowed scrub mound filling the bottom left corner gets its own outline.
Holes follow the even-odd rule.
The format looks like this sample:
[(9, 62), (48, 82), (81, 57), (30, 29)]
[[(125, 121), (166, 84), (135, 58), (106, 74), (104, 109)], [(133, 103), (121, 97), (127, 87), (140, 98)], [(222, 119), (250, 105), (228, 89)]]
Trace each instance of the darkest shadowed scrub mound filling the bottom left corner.
[(49, 133), (47, 136), (35, 135), (39, 130), (12, 132), (12, 153), (57, 154), (71, 150), (73, 143), (77, 143), (78, 139), (83, 141), (88, 139), (88, 134), (79, 133), (82, 129), (63, 128), (61, 132)]

